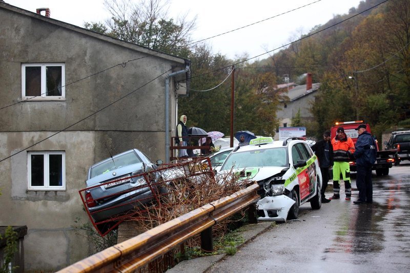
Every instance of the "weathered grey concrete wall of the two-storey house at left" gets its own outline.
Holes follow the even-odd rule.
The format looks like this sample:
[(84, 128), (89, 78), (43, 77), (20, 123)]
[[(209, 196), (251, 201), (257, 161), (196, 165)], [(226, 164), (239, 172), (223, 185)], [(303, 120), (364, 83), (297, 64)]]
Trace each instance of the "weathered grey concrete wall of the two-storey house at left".
[[(166, 160), (167, 73), (160, 75), (185, 68), (185, 60), (4, 3), (0, 17), (0, 108), (17, 103), (0, 110), (0, 160), (13, 155), (0, 162), (0, 225), (27, 225), (25, 269), (53, 271), (89, 255), (91, 246), (72, 225), (77, 217), (88, 221), (78, 190), (85, 187), (88, 167), (109, 157), (107, 148), (112, 154), (137, 148), (154, 161)], [(21, 67), (29, 62), (64, 62), (65, 100), (20, 101)], [(171, 79), (170, 130), (176, 107)], [(23, 150), (47, 137), (27, 151), (65, 151), (66, 190), (28, 191)]]

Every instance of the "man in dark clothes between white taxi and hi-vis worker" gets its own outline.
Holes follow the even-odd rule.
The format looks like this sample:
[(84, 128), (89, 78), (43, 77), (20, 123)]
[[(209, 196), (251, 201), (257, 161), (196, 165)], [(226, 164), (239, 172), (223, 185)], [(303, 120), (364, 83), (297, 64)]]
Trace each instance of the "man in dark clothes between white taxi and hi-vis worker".
[(331, 201), (324, 196), (327, 182), (329, 182), (330, 178), (329, 169), (333, 166), (333, 147), (330, 139), (330, 131), (325, 131), (323, 133), (323, 139), (319, 140), (312, 146), (312, 150), (315, 152), (319, 161), (320, 172), (322, 174), (322, 188), (320, 190), (320, 193), (322, 194), (322, 203), (329, 203)]

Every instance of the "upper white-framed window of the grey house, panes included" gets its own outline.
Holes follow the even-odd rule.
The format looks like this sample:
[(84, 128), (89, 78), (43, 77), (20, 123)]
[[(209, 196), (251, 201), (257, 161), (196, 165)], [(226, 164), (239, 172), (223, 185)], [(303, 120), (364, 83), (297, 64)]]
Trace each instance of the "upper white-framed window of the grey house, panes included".
[(64, 100), (65, 71), (61, 63), (23, 64), (22, 99)]

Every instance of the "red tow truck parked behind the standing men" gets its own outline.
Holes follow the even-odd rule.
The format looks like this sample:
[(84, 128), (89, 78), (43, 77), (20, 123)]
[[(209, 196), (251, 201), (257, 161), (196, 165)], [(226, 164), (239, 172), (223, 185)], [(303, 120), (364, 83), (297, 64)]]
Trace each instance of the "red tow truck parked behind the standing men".
[[(344, 133), (347, 137), (352, 138), (353, 143), (356, 144), (357, 137), (359, 136), (357, 131), (355, 130), (359, 124), (364, 123), (363, 120), (358, 121), (345, 121), (345, 122), (336, 122), (335, 126), (331, 128), (331, 137), (332, 139), (336, 137), (336, 130), (338, 127), (343, 127)], [(370, 125), (366, 124), (366, 131), (372, 134), (370, 130)], [(388, 151), (379, 151), (379, 145), (376, 140), (376, 149), (377, 149), (377, 157), (376, 162), (372, 167), (372, 170), (376, 171), (377, 176), (388, 175), (389, 169), (393, 166), (394, 158), (391, 155), (396, 153), (396, 150), (388, 150)], [(350, 164), (350, 171), (356, 172), (356, 160), (352, 159), (349, 161)]]

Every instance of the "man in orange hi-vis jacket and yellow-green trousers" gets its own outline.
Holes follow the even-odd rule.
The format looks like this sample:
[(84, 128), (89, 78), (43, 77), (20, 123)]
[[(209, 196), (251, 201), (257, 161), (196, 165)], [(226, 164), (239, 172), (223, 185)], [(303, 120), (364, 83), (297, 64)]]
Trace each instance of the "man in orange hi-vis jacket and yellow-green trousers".
[(347, 137), (343, 127), (337, 128), (337, 135), (332, 139), (333, 146), (333, 196), (329, 199), (340, 198), (340, 174), (344, 181), (344, 192), (346, 200), (352, 196), (352, 185), (350, 182), (349, 160), (355, 152), (355, 145), (352, 138)]

